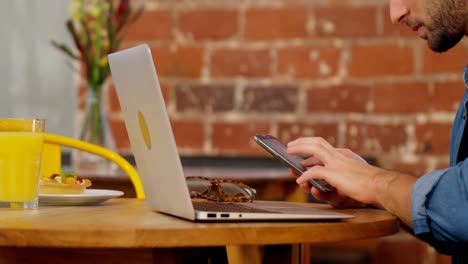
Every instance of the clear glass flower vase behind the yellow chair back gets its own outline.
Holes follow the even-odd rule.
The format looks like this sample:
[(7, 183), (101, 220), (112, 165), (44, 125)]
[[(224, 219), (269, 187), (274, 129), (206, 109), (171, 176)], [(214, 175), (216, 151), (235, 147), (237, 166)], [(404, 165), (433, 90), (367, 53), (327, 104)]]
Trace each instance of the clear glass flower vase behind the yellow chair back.
[[(79, 139), (115, 151), (115, 142), (105, 111), (105, 85), (88, 89), (84, 115), (79, 123)], [(73, 149), (73, 169), (79, 173), (109, 174), (116, 169), (113, 162), (88, 152)]]

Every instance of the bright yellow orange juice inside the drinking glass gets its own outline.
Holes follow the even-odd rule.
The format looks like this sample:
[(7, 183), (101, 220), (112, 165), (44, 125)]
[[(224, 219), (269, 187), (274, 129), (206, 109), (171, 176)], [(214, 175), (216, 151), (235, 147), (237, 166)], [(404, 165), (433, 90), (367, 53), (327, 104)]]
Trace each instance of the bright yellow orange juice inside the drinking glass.
[(43, 133), (0, 131), (0, 201), (37, 198)]

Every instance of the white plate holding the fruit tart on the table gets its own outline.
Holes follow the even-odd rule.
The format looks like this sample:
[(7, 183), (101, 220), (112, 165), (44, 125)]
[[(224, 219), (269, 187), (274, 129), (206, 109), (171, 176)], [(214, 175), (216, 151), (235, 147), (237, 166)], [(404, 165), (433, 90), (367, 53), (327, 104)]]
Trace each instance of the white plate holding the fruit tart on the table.
[(81, 194), (40, 194), (42, 205), (93, 205), (122, 196), (124, 193), (114, 190), (86, 189)]

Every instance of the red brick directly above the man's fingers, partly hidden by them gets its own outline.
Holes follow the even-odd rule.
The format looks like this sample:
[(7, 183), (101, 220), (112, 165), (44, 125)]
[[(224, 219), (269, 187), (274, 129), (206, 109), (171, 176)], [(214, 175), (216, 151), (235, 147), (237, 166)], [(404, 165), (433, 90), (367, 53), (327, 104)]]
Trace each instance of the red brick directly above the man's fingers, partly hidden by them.
[(337, 146), (338, 124), (324, 122), (294, 122), (278, 124), (278, 139), (287, 144), (300, 137), (323, 137), (330, 144)]

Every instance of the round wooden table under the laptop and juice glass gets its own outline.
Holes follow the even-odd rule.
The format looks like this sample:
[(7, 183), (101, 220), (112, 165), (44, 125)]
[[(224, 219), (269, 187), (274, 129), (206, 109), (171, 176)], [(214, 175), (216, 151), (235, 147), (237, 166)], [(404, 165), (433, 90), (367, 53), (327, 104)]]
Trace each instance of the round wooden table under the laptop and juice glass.
[(249, 259), (252, 263), (261, 258), (255, 250), (252, 251), (256, 245), (359, 240), (398, 231), (397, 218), (382, 210), (310, 206), (356, 217), (338, 222), (200, 223), (152, 212), (141, 200), (113, 199), (98, 206), (2, 210), (0, 246), (8, 250), (12, 247), (152, 248), (153, 254), (159, 254), (153, 256), (153, 260), (166, 259), (167, 262), (171, 259), (175, 262), (170, 248), (228, 246), (228, 254), (240, 256), (240, 259), (230, 258), (230, 263), (253, 258)]

